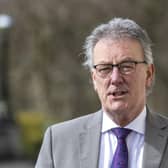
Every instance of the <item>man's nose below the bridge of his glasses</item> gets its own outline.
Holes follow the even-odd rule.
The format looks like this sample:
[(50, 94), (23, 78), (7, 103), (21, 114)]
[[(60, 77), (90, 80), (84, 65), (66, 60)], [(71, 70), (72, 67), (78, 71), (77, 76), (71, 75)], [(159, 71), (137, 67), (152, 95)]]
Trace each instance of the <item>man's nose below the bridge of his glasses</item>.
[(113, 67), (110, 79), (112, 84), (119, 84), (123, 81), (123, 77), (117, 67)]

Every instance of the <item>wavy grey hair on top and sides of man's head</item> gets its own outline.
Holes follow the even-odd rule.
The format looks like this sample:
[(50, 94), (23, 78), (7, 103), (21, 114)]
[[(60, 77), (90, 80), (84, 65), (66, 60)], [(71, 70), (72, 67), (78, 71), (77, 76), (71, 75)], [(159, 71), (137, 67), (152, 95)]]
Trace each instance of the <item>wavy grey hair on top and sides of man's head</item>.
[(91, 34), (86, 38), (84, 44), (84, 66), (89, 68), (93, 67), (93, 49), (96, 43), (104, 38), (121, 39), (121, 38), (133, 38), (140, 42), (143, 51), (144, 59), (148, 64), (153, 64), (152, 56), (152, 42), (145, 30), (143, 30), (133, 20), (114, 18), (106, 24), (101, 24), (96, 27)]

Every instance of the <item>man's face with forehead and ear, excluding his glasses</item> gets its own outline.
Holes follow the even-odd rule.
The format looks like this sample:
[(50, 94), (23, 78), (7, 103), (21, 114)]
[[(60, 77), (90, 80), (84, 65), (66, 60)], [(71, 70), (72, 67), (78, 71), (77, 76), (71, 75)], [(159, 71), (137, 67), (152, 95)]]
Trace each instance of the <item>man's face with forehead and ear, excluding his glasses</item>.
[[(144, 53), (137, 40), (102, 39), (93, 50), (93, 62), (97, 64), (118, 64), (124, 61), (144, 61)], [(113, 118), (125, 115), (133, 120), (146, 103), (146, 88), (153, 79), (153, 65), (137, 64), (130, 74), (123, 75), (114, 67), (110, 76), (101, 77), (92, 70), (94, 88), (100, 98), (102, 108)]]

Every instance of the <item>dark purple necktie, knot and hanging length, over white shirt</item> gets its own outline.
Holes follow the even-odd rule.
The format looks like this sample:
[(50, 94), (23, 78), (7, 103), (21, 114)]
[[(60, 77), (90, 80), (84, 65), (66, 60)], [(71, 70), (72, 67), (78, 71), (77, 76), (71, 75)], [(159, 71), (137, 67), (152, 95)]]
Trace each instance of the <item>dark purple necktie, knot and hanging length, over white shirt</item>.
[(126, 128), (113, 128), (112, 131), (116, 135), (118, 143), (111, 168), (128, 168), (128, 149), (126, 137), (131, 130)]

